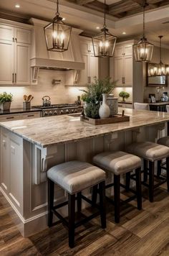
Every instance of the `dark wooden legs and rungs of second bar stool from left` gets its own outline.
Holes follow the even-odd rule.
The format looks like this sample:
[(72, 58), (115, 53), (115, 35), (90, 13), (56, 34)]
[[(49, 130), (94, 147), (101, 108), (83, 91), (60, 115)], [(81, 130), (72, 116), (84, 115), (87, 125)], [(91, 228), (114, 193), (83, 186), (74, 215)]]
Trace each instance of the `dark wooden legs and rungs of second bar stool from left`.
[[(110, 172), (110, 171), (108, 171)], [(141, 188), (141, 168), (135, 169), (135, 175), (136, 175), (136, 191), (130, 188), (130, 172), (126, 173), (126, 180), (127, 185), (123, 185), (120, 183), (120, 175), (115, 175), (114, 174), (114, 183), (110, 183), (105, 186), (105, 188), (110, 188), (114, 186), (114, 200), (106, 196), (106, 199), (110, 201), (110, 203), (115, 205), (115, 222), (119, 223), (120, 222), (120, 206), (122, 204), (127, 204), (128, 202), (132, 201), (133, 199), (137, 198), (137, 209), (141, 210), (142, 209), (142, 188)], [(134, 193), (134, 196), (130, 196), (130, 198), (127, 198), (125, 201), (120, 202), (120, 186), (122, 188), (125, 188), (126, 191), (130, 191)], [(97, 186), (93, 187), (92, 191), (92, 202), (95, 205), (97, 201)]]

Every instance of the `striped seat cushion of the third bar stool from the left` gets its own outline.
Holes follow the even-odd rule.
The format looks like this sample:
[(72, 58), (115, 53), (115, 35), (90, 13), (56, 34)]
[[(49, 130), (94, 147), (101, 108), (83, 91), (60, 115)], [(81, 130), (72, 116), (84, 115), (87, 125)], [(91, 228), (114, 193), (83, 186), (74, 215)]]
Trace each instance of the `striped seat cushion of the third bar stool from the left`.
[(126, 151), (154, 162), (169, 157), (169, 148), (153, 142), (135, 142), (126, 147)]

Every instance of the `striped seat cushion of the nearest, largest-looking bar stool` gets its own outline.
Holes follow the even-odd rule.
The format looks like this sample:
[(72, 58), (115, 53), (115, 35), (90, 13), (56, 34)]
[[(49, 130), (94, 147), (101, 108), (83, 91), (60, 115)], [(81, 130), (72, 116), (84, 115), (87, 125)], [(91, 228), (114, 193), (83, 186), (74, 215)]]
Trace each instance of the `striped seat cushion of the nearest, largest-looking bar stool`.
[(50, 168), (47, 177), (74, 194), (105, 180), (105, 172), (90, 163), (69, 161)]

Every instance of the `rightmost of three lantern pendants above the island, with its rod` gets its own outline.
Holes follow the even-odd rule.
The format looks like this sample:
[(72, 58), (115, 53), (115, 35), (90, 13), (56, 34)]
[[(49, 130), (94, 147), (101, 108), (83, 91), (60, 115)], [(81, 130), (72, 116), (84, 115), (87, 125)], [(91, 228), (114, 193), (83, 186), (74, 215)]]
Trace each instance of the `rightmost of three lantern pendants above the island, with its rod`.
[(145, 7), (148, 6), (147, 1), (143, 0), (143, 37), (140, 42), (133, 45), (135, 60), (138, 62), (150, 62), (153, 55), (153, 48), (150, 42), (145, 37)]

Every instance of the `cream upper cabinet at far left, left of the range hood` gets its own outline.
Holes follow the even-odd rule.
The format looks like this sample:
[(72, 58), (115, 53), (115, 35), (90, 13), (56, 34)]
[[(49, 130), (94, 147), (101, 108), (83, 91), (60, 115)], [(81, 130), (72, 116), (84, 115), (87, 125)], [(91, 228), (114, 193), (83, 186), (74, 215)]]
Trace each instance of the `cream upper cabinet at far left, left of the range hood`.
[(29, 85), (31, 30), (0, 24), (0, 85)]

